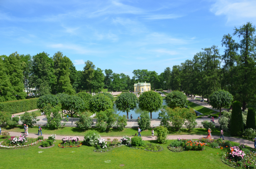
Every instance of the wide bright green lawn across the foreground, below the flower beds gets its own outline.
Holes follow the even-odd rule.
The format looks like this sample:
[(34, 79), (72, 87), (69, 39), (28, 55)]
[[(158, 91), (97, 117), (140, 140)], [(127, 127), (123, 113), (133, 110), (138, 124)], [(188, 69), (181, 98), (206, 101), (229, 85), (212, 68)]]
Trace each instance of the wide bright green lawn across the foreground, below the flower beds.
[[(82, 138), (80, 137), (80, 140)], [(2, 141), (3, 139), (0, 139)], [(94, 147), (81, 146), (78, 148), (59, 148), (57, 140), (55, 146), (50, 149), (39, 149), (37, 144), (23, 149), (0, 149), (0, 169), (11, 168), (214, 168), (231, 169), (220, 158), (226, 150), (213, 149), (205, 146), (204, 151), (172, 152), (166, 144), (158, 144), (155, 140), (146, 143), (157, 143), (163, 147), (163, 151), (152, 152), (140, 149), (131, 149), (128, 146), (120, 146), (108, 152), (94, 152)], [(38, 153), (38, 151), (43, 151)], [(105, 161), (110, 160), (110, 163)], [(124, 166), (120, 166), (124, 164)]]

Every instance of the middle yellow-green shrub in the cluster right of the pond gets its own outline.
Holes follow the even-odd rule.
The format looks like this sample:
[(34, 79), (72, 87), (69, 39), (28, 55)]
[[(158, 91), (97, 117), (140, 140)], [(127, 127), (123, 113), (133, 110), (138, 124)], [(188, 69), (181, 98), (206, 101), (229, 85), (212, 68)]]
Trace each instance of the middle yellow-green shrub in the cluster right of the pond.
[(170, 116), (170, 121), (172, 122), (172, 126), (176, 131), (179, 131), (182, 125), (185, 122), (185, 115), (188, 111), (187, 108), (176, 107), (171, 109), (170, 107), (166, 108), (168, 115)]

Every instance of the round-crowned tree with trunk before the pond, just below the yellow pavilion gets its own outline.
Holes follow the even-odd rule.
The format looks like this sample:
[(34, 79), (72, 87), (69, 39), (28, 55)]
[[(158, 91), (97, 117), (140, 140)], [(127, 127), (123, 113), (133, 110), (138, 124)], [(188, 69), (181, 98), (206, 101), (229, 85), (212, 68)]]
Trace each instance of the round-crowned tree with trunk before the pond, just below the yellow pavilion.
[(152, 112), (158, 111), (163, 104), (163, 99), (157, 92), (147, 91), (143, 92), (139, 97), (139, 108), (142, 111), (150, 112), (150, 118), (152, 119)]

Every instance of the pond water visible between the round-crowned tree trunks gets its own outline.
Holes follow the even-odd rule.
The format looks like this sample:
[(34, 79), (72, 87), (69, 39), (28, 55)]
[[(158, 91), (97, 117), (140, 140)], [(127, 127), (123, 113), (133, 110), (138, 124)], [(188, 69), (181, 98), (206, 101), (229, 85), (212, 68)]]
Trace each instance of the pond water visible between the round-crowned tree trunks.
[[(166, 105), (164, 99), (163, 99), (163, 105)], [(129, 119), (130, 119), (130, 115), (131, 115), (131, 114), (132, 114), (132, 118), (133, 118), (133, 119), (137, 119), (138, 116), (140, 116), (140, 114), (141, 114), (142, 112), (143, 112), (143, 111), (140, 110), (139, 105), (137, 104), (137, 107), (136, 107), (134, 110), (132, 110), (132, 111), (129, 112)], [(161, 111), (159, 110), (158, 112), (152, 112), (152, 119), (157, 119), (159, 112), (161, 112)], [(114, 107), (114, 113), (120, 113), (119, 115), (121, 115), (121, 116), (127, 115), (126, 112), (118, 111), (117, 108), (116, 108), (116, 106)], [(150, 113), (148, 113), (148, 114), (149, 114), (149, 116), (150, 116)]]

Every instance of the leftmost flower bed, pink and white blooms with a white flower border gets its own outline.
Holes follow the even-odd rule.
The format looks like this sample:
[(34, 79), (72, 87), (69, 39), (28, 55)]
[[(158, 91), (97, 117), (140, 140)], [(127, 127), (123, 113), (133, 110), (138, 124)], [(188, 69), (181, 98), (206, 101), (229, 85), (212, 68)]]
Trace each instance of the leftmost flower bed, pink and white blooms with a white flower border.
[(5, 139), (0, 142), (1, 149), (17, 149), (17, 148), (26, 148), (36, 145), (44, 140), (37, 140), (37, 138), (27, 138), (27, 136), (12, 136), (10, 139)]

